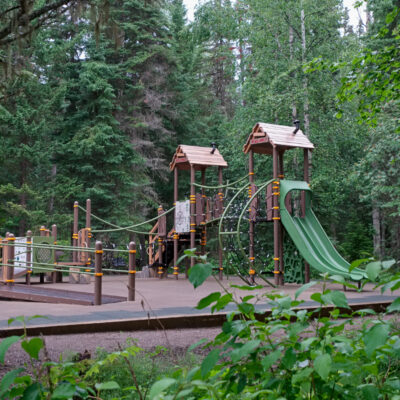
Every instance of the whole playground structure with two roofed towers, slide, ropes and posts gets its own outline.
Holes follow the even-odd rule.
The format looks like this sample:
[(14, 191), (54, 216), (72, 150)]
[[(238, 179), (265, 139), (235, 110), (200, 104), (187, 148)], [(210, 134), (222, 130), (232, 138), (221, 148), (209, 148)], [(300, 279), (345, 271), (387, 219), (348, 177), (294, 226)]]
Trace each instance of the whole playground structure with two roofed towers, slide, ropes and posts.
[[(171, 268), (173, 276), (178, 279), (179, 254), (185, 248), (196, 248), (198, 255), (204, 255), (207, 251), (207, 237), (213, 230), (216, 230), (214, 237), (218, 238), (216, 258), (219, 279), (223, 278), (224, 266), (229, 266), (230, 262), (235, 273), (248, 284), (254, 284), (256, 278), (272, 286), (283, 285), (288, 281), (308, 282), (310, 266), (322, 273), (360, 281), (365, 277), (364, 272), (359, 269), (349, 272), (349, 264), (337, 253), (311, 209), (309, 154), (314, 145), (299, 129), (297, 121), (295, 125), (256, 124), (243, 147), (244, 153), (248, 155), (248, 175), (232, 183), (223, 183), (223, 169), (228, 164), (215, 144), (211, 147), (178, 146), (170, 163), (170, 170), (174, 173), (173, 207), (164, 211), (160, 206), (158, 215), (148, 221), (125, 227), (117, 226), (92, 214), (91, 201), (87, 200), (86, 208), (78, 202), (73, 206), (72, 246), (57, 244), (55, 225), (51, 234), (48, 229), (41, 227), (39, 237), (33, 237), (32, 232), (28, 231), (26, 238), (16, 241), (12, 234), (7, 234), (1, 241), (1, 282), (9, 287), (14, 286), (14, 279), (26, 274), (26, 283), (30, 285), (32, 271), (39, 272), (41, 282), (44, 281), (44, 272), (49, 274), (54, 283), (62, 281), (63, 272), (69, 273), (70, 277), (75, 276), (76, 282), (83, 280), (87, 283), (86, 278), (93, 276), (93, 303), (101, 304), (103, 271), (127, 273), (128, 300), (134, 300), (135, 243), (131, 242), (126, 250), (121, 250), (105, 249), (101, 242), (96, 241), (92, 248), (93, 235), (121, 231), (145, 235), (148, 237), (148, 260), (142, 259), (142, 264), (148, 265), (150, 270), (155, 271), (153, 276), (159, 278), (165, 277), (168, 268)], [(303, 149), (304, 181), (288, 180), (284, 175), (284, 154), (296, 148)], [(272, 156), (272, 179), (256, 182), (255, 154)], [(218, 184), (215, 186), (206, 185), (206, 171), (210, 167), (217, 169), (215, 177)], [(190, 195), (189, 199), (180, 200), (179, 174), (184, 171), (190, 173)], [(201, 183), (196, 182), (197, 173), (200, 173)], [(212, 193), (207, 195), (209, 191)], [(80, 230), (79, 209), (86, 213), (85, 227)], [(168, 229), (167, 215), (172, 211), (175, 211), (173, 224)], [(91, 218), (96, 218), (110, 228), (93, 230)], [(155, 225), (148, 232), (137, 230), (154, 222)], [(268, 233), (268, 230), (272, 232)], [(25, 249), (23, 262), (15, 258), (17, 248), (18, 254), (23, 253), (21, 248)], [(71, 252), (71, 260), (58, 261), (57, 251)], [(128, 269), (104, 268), (102, 257), (107, 251), (127, 253)], [(190, 266), (195, 262), (195, 257), (191, 257)], [(188, 268), (186, 264), (186, 277)], [(273, 283), (268, 279), (269, 274), (273, 274)]]

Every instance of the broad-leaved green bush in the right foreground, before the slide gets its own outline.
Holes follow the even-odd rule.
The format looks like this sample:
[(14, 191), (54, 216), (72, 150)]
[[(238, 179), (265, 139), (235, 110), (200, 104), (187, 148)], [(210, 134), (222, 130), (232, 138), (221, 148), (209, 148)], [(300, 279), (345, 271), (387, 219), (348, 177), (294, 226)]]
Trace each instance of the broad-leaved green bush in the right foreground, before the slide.
[[(378, 264), (367, 265), (374, 279)], [(395, 274), (380, 285), (388, 288), (399, 279)], [(313, 284), (301, 287), (296, 298)], [(212, 293), (198, 308), (216, 306), (222, 297)], [(220, 334), (207, 343), (211, 350), (200, 368), (181, 369), (163, 378), (153, 385), (150, 398), (399, 398), (398, 325), (374, 315), (357, 320), (367, 310), (343, 313), (348, 307), (343, 292), (324, 287), (311, 299), (321, 307), (333, 304), (329, 317), (322, 317), (319, 310), (298, 310), (301, 301), (280, 294), (250, 295), (240, 301), (231, 296), (236, 310), (228, 314)], [(254, 308), (254, 302), (260, 301), (271, 307), (263, 320)], [(397, 310), (399, 304), (395, 300), (387, 312)]]

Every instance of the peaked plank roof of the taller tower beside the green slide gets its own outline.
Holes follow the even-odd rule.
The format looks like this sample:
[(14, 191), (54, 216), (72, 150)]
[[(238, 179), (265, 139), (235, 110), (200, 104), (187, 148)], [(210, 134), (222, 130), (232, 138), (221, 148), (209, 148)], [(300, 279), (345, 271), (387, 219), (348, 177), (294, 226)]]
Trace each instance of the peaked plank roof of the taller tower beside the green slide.
[(301, 130), (293, 133), (294, 126), (273, 125), (259, 122), (256, 124), (247, 138), (243, 151), (248, 153), (272, 154), (272, 149), (277, 147), (279, 151), (301, 147), (313, 149), (314, 145)]

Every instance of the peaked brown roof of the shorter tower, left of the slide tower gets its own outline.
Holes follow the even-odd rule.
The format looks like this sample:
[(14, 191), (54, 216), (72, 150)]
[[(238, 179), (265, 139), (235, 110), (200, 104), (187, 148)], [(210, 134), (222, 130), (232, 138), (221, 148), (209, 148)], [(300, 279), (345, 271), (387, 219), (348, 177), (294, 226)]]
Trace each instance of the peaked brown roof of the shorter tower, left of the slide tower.
[(207, 167), (227, 167), (228, 164), (222, 157), (218, 149), (211, 154), (212, 147), (186, 146), (181, 144), (175, 151), (169, 168), (190, 169), (194, 165), (195, 169)]

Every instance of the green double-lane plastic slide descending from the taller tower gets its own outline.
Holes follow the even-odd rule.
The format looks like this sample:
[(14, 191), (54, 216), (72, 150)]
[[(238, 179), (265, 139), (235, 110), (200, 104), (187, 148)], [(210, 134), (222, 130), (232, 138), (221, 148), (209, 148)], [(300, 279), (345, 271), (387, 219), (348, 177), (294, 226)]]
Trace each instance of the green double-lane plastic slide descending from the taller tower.
[[(293, 216), (285, 206), (286, 195), (292, 190), (305, 193), (305, 217)], [(316, 270), (330, 275), (341, 275), (359, 281), (366, 278), (361, 269), (349, 272), (350, 264), (336, 251), (311, 209), (312, 191), (307, 182), (281, 180), (280, 213), (281, 221), (302, 257)]]

